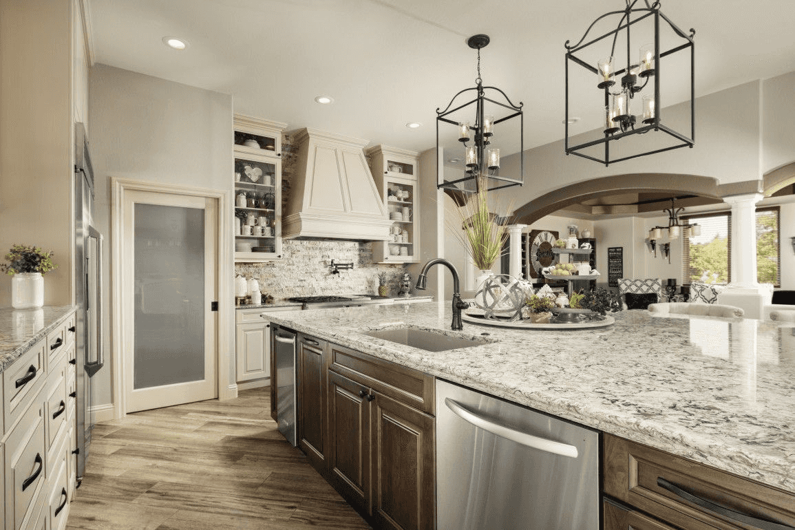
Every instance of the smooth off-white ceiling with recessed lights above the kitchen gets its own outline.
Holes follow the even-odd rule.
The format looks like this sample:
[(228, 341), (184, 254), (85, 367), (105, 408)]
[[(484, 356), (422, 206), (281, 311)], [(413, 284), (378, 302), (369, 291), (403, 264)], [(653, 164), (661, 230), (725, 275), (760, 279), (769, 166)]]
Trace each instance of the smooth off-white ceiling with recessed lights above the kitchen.
[[(661, 5), (682, 29), (696, 29), (696, 95), (795, 71), (792, 0)], [(623, 6), (621, 0), (91, 0), (91, 23), (98, 63), (231, 94), (236, 112), (289, 128), (416, 150), (435, 145), (436, 107), (474, 85), (475, 51), (466, 41), (487, 33), (484, 84), (524, 102), (528, 149), (564, 136), (564, 42), (579, 41), (596, 17)], [(165, 36), (187, 40), (188, 49), (166, 48)], [(321, 94), (335, 103), (315, 103)], [(413, 121), (423, 126), (407, 129)], [(573, 131), (591, 126), (580, 123)]]

